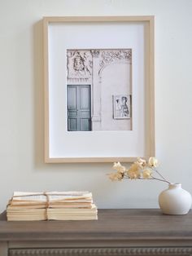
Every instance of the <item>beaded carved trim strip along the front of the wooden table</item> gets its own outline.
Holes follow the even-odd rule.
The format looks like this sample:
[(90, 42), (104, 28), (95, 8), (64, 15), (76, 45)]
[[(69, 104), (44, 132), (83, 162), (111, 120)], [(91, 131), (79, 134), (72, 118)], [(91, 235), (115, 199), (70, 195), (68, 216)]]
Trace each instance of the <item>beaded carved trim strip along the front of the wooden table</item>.
[(82, 255), (82, 256), (126, 256), (126, 255), (192, 256), (192, 247), (9, 249), (9, 256), (79, 256), (79, 255)]

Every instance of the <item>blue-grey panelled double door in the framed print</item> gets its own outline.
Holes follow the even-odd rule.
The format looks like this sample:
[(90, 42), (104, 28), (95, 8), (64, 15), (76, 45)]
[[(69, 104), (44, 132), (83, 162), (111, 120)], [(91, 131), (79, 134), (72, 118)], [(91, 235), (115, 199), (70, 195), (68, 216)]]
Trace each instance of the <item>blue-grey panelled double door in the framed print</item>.
[(91, 130), (90, 86), (68, 86), (68, 130)]

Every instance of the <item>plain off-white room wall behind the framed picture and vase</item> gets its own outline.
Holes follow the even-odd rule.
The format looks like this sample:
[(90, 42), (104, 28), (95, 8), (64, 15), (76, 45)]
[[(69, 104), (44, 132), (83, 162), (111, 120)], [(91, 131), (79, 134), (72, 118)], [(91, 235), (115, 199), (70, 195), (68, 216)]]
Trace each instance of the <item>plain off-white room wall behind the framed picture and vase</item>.
[(0, 210), (15, 190), (89, 190), (99, 208), (157, 207), (166, 184), (111, 183), (111, 164), (44, 164), (41, 19), (155, 15), (156, 156), (192, 193), (192, 1), (0, 0)]

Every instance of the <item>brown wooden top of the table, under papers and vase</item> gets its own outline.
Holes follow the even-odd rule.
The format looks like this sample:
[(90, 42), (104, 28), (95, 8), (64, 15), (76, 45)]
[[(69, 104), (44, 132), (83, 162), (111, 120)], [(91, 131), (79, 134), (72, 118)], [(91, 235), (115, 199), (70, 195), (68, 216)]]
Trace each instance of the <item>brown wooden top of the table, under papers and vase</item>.
[(192, 241), (192, 212), (165, 215), (155, 209), (98, 210), (98, 220), (15, 221), (0, 215), (0, 241), (74, 240), (188, 240)]

